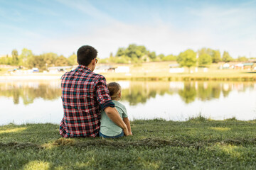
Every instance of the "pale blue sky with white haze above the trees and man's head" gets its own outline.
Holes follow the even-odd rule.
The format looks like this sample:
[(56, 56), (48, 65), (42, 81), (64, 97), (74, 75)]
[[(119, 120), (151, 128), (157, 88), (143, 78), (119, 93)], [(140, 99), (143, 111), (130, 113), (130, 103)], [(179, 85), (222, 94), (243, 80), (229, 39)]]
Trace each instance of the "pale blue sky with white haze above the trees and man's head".
[(144, 45), (156, 55), (209, 47), (256, 57), (256, 0), (0, 0), (0, 55), (16, 49), (98, 57)]

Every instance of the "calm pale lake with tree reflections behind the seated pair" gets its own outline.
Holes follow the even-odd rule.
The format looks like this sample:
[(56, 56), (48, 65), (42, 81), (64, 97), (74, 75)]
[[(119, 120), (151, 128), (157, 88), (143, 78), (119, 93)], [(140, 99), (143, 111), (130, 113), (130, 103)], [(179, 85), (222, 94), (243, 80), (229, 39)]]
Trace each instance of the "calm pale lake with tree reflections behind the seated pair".
[[(256, 119), (256, 82), (117, 81), (130, 120)], [(60, 123), (59, 80), (1, 81), (0, 125)]]

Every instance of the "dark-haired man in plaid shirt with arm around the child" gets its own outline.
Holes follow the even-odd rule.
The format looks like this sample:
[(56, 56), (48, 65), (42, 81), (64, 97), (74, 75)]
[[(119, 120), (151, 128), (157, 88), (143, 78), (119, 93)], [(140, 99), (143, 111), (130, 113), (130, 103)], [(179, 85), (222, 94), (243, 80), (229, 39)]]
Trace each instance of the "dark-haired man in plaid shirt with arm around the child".
[(105, 77), (93, 71), (97, 50), (89, 45), (78, 49), (78, 67), (61, 77), (64, 117), (60, 123), (63, 137), (97, 137), (101, 108), (107, 116), (129, 135), (114, 103), (111, 101)]

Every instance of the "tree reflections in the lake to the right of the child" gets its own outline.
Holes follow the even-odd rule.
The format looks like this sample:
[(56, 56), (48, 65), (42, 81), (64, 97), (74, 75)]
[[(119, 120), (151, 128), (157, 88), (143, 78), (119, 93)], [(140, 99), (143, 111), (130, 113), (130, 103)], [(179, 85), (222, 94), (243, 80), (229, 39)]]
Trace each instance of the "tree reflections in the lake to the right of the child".
[(210, 101), (215, 98), (220, 98), (221, 94), (223, 97), (228, 97), (230, 91), (245, 91), (246, 89), (256, 89), (256, 83), (218, 81), (130, 81), (129, 87), (122, 89), (122, 101), (128, 101), (129, 105), (136, 106), (138, 103), (146, 103), (149, 98), (155, 98), (156, 94), (159, 96), (163, 96), (164, 94), (178, 94), (185, 103), (193, 103), (196, 98), (201, 101)]

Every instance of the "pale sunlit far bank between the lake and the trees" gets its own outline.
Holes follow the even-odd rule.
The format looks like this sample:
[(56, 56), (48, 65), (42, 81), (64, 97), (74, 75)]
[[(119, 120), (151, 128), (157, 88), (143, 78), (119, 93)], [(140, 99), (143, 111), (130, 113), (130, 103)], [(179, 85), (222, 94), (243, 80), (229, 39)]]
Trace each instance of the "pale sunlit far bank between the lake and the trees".
[[(171, 73), (170, 65), (174, 62), (149, 62), (143, 64), (107, 64), (111, 68), (127, 67), (129, 72), (97, 71), (107, 80), (131, 81), (256, 81), (256, 71), (251, 69), (220, 69), (223, 63), (211, 64), (209, 68), (185, 68), (183, 72)], [(98, 67), (106, 64), (98, 64)], [(68, 70), (67, 70), (68, 71)], [(95, 70), (96, 72), (96, 70)], [(60, 79), (65, 72), (7, 72), (2, 69), (0, 81)]]

